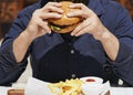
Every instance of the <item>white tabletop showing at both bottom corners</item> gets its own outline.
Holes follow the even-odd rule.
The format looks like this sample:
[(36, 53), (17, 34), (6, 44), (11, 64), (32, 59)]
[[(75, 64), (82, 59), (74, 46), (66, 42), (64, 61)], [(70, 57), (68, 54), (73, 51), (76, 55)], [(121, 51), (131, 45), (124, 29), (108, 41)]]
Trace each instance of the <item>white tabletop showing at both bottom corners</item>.
[[(7, 95), (11, 87), (0, 86), (0, 95)], [(133, 87), (111, 87), (111, 95), (133, 95)]]

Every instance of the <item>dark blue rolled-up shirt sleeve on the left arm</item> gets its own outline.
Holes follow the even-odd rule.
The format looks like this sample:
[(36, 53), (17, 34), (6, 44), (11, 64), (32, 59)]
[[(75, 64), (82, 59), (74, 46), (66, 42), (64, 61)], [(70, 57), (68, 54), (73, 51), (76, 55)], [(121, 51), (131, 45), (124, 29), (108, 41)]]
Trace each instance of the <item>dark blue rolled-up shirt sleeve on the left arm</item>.
[(14, 39), (25, 29), (28, 18), (23, 13), (19, 13), (18, 18), (13, 21), (9, 33), (7, 33), (1, 48), (0, 48), (0, 85), (11, 85), (16, 82), (27, 66), (27, 57), (21, 63), (17, 63), (12, 43)]

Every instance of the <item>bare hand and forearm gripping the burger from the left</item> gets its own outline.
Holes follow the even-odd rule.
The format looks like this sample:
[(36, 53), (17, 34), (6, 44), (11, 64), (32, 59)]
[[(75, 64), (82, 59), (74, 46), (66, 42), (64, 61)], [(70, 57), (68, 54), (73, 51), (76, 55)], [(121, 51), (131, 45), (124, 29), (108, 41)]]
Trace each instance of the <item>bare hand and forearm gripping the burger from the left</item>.
[(61, 18), (63, 11), (60, 7), (61, 4), (58, 2), (48, 2), (43, 8), (33, 12), (27, 29), (13, 42), (13, 53), (18, 63), (24, 59), (30, 44), (35, 38), (51, 33), (47, 19)]

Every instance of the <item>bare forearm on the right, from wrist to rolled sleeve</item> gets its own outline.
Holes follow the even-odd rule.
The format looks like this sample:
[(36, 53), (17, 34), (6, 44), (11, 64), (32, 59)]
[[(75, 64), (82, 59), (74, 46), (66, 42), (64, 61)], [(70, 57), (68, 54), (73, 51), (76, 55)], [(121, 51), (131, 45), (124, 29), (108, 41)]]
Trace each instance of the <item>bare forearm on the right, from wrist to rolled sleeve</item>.
[(113, 35), (111, 32), (105, 30), (100, 41), (110, 60), (115, 61), (119, 53), (119, 46), (120, 46), (119, 40), (115, 38), (115, 35)]

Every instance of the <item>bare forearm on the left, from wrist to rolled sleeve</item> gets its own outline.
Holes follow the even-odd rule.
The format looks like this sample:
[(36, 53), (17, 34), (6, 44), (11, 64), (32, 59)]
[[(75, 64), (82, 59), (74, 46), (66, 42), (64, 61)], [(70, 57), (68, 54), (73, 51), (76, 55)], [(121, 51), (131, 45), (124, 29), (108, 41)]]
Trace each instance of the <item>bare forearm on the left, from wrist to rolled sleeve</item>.
[(32, 42), (32, 38), (23, 31), (13, 42), (13, 53), (17, 62), (21, 62)]

